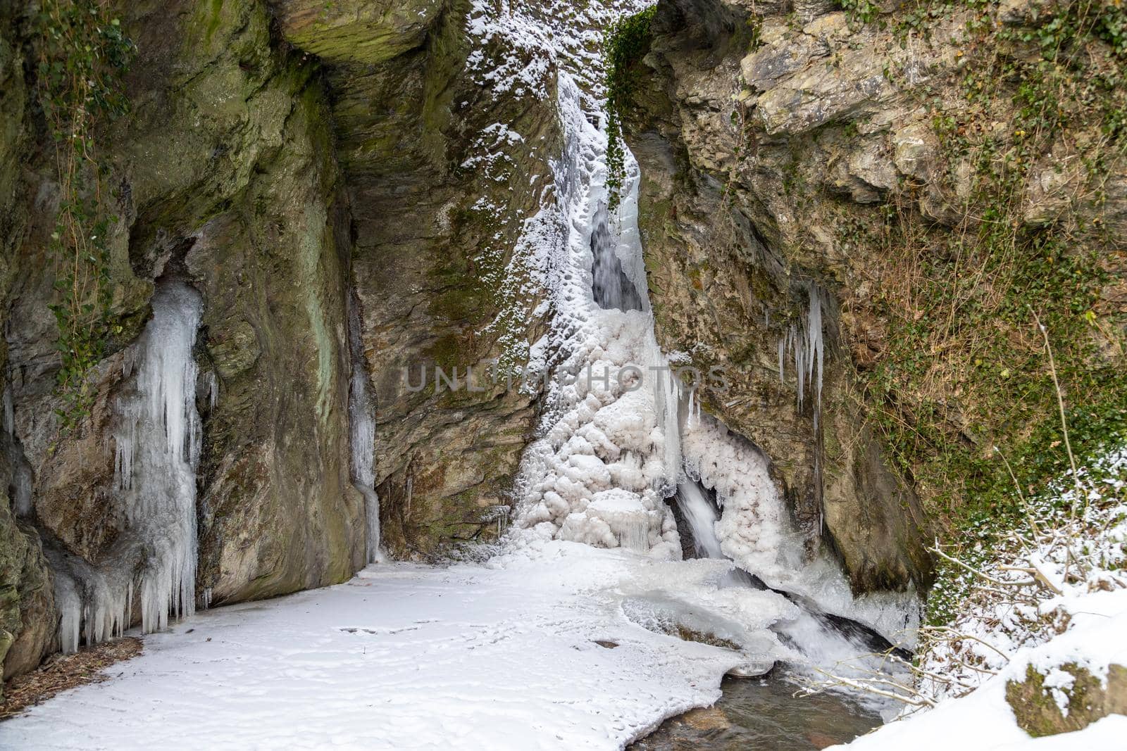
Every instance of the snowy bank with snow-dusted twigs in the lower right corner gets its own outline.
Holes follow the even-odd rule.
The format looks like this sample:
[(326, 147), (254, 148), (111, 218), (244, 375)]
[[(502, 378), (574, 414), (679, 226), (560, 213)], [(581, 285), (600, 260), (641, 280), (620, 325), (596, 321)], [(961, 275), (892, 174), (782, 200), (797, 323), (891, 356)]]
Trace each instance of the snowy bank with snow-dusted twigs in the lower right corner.
[(946, 594), (957, 615), (949, 626), (925, 629), (921, 680), (898, 690), (924, 706), (851, 749), (1127, 748), (1124, 715), (1032, 739), (1005, 695), (1006, 683), (1024, 681), (1032, 667), (1067, 716), (1075, 679), (1062, 665), (1079, 665), (1104, 687), (1110, 664), (1127, 665), (1127, 449), (1023, 503), (1022, 529), (987, 530), (992, 545), (971, 548), (969, 563), (952, 562), (959, 573), (943, 588), (956, 590)]

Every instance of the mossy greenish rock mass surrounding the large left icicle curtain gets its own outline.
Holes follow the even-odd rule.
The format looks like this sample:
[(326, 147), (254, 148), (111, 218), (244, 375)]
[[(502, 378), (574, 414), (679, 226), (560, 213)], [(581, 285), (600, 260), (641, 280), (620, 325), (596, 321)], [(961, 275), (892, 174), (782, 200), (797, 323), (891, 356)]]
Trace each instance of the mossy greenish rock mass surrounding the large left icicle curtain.
[[(130, 11), (121, 23), (139, 50), (124, 82), (132, 109), (99, 135), (118, 216), (108, 271), (122, 325), (72, 431), (55, 418), (46, 302), (59, 187), (48, 154), (28, 166), (20, 190), (28, 229), (7, 333), (16, 435), (34, 476), (27, 517), (63, 567), (147, 566), (151, 553), (122, 560), (134, 542), (121, 491), (122, 405), (154, 284), (180, 278), (203, 297), (199, 598), (343, 581), (363, 563), (363, 508), (349, 481), (343, 375), (346, 200), (323, 89), (276, 50), (264, 7)], [(94, 607), (103, 594), (76, 575)]]

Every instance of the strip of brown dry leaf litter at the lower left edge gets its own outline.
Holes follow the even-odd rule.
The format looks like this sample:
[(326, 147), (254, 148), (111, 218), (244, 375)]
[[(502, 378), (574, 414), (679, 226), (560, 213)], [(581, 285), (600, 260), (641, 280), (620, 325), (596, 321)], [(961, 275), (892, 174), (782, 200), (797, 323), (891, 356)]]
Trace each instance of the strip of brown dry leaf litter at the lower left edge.
[(112, 678), (106, 668), (141, 654), (141, 640), (126, 636), (87, 647), (76, 654), (55, 655), (38, 669), (17, 676), (5, 686), (0, 719), (14, 717), (27, 707), (78, 686), (97, 683)]

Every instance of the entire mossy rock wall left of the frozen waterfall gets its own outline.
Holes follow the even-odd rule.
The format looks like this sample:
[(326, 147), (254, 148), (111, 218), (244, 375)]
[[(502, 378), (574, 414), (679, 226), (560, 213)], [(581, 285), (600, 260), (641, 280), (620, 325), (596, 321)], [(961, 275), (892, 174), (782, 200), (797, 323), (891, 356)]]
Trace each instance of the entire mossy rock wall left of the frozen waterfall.
[[(11, 431), (0, 470), (5, 490), (30, 491), (26, 508), (14, 499), (0, 515), (9, 674), (59, 646), (52, 567), (74, 580), (89, 626), (100, 605), (128, 601), (107, 593), (103, 574), (143, 579), (156, 554), (128, 522), (123, 405), (137, 390), (153, 290), (174, 281), (202, 298), (201, 424), (189, 437), (197, 602), (335, 583), (364, 565), (354, 368), (374, 394), (389, 551), (427, 556), (496, 534), (494, 507), (506, 502), (534, 393), (467, 392), (465, 368), (478, 365), (480, 381), (481, 366), (525, 358), (548, 314), (533, 314), (536, 292), (511, 261), (540, 206), (544, 155), (558, 150), (551, 100), (472, 78), (473, 63), (511, 50), (495, 41), (481, 52), (486, 43), (467, 33), (468, 3), (305, 6), (117, 9), (137, 54), (124, 80), (128, 114), (97, 131), (115, 215), (115, 325), (72, 430), (56, 415), (47, 303), (60, 187), (26, 64), (33, 19), (6, 20), (0, 280)], [(554, 84), (551, 66), (539, 78)], [(513, 189), (512, 172), (522, 176)], [(425, 388), (407, 387), (408, 366), (414, 383), (427, 369)], [(463, 388), (436, 391), (435, 366), (456, 368)], [(103, 635), (137, 622), (140, 607), (124, 623), (106, 616)]]

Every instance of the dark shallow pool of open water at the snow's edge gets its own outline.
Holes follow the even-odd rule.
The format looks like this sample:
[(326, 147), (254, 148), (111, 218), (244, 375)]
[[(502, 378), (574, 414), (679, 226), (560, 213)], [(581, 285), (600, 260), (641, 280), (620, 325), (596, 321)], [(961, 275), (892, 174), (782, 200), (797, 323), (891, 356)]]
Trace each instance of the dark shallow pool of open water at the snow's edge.
[(796, 698), (784, 678), (724, 679), (724, 696), (706, 709), (671, 717), (631, 751), (806, 751), (852, 741), (880, 716), (833, 695)]

